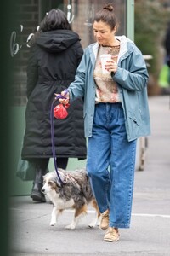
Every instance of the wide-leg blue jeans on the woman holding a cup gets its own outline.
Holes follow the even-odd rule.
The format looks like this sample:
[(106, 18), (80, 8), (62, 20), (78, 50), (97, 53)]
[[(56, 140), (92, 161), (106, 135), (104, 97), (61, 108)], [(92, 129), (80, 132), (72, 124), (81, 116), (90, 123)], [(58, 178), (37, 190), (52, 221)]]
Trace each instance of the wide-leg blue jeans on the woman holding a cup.
[(122, 103), (97, 104), (87, 171), (99, 211), (110, 209), (110, 227), (130, 226), (135, 154), (136, 140), (127, 141)]

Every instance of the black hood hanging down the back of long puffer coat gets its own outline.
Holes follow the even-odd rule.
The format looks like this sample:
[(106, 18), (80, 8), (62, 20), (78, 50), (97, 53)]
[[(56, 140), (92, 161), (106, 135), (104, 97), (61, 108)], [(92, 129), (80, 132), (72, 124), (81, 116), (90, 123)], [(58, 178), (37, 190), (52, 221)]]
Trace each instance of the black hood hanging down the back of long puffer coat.
[(48, 52), (61, 52), (69, 48), (72, 44), (80, 41), (76, 32), (71, 30), (54, 30), (42, 32), (37, 38), (36, 44)]

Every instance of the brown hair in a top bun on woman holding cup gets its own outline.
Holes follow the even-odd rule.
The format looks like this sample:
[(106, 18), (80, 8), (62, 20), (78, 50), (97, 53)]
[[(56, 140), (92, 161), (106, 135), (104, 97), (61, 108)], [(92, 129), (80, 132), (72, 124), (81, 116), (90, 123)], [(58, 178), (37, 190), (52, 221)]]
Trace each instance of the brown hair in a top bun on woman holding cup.
[(94, 21), (103, 21), (111, 26), (111, 30), (118, 27), (118, 21), (114, 12), (114, 8), (111, 4), (107, 4), (103, 9), (99, 10), (94, 16)]

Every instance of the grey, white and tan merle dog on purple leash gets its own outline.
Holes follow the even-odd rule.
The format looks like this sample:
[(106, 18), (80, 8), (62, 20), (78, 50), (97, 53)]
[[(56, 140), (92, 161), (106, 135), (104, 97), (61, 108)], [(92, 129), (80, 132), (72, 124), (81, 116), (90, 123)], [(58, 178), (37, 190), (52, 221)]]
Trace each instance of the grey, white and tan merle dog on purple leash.
[(74, 209), (74, 218), (67, 229), (75, 229), (82, 216), (87, 213), (88, 204), (91, 203), (95, 209), (95, 218), (88, 224), (94, 227), (99, 224), (99, 208), (94, 199), (89, 177), (85, 169), (65, 171), (59, 169), (59, 177), (56, 172), (48, 172), (43, 176), (42, 193), (48, 196), (54, 207), (51, 215), (50, 225), (56, 224), (59, 214), (65, 209)]

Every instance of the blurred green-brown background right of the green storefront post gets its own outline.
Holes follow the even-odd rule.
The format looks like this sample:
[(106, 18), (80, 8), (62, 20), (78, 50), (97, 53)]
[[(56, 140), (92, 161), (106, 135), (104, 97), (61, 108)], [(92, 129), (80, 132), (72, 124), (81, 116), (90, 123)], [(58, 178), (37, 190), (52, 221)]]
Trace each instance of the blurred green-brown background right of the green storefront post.
[(170, 20), (169, 0), (134, 1), (134, 41), (144, 55), (152, 55), (149, 61), (149, 96), (159, 95), (158, 77), (165, 60), (164, 38)]

